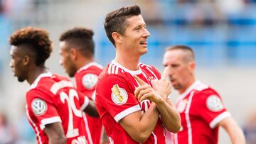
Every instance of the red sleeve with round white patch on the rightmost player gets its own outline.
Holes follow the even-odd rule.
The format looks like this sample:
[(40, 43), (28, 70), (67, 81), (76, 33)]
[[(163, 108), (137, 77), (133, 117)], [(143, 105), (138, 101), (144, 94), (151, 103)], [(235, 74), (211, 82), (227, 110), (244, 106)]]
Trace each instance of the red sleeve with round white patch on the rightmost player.
[(203, 90), (198, 94), (195, 98), (196, 113), (209, 124), (210, 128), (215, 128), (220, 121), (230, 116), (219, 94), (211, 89)]

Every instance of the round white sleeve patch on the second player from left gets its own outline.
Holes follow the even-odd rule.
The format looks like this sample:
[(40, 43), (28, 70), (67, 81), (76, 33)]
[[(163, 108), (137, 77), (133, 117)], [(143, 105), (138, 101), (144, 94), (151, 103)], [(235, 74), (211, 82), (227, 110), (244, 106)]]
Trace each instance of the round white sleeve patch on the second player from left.
[(95, 84), (97, 84), (97, 75), (96, 74), (85, 74), (82, 77), (82, 85), (86, 89), (93, 89), (95, 87)]

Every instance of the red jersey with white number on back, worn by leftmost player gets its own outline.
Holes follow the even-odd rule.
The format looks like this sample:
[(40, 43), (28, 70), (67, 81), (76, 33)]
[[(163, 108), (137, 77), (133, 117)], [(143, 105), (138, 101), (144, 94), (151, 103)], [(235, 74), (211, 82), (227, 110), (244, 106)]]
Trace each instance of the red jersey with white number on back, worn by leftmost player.
[(86, 107), (88, 101), (67, 78), (40, 74), (26, 93), (26, 113), (38, 144), (48, 143), (43, 129), (56, 122), (62, 123), (67, 143), (87, 143), (80, 106)]

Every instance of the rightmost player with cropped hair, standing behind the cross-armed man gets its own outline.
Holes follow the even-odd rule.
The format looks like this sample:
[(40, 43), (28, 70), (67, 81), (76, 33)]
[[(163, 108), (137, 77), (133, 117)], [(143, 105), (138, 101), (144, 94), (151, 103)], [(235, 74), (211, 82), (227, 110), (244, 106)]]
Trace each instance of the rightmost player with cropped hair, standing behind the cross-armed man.
[(217, 144), (218, 129), (228, 132), (233, 144), (244, 144), (245, 137), (223, 100), (214, 89), (196, 80), (193, 50), (184, 45), (166, 49), (163, 64), (168, 69), (174, 89), (181, 94), (176, 109), (181, 114), (181, 130), (174, 134), (174, 144)]

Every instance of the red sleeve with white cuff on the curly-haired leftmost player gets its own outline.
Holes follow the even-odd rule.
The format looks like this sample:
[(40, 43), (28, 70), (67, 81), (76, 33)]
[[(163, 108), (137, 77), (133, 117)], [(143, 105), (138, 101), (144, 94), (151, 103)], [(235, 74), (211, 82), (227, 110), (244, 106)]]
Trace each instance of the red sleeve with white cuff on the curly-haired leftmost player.
[(26, 94), (26, 98), (28, 111), (33, 112), (34, 117), (40, 123), (41, 130), (47, 124), (61, 122), (54, 101), (50, 99), (50, 94), (33, 89)]

